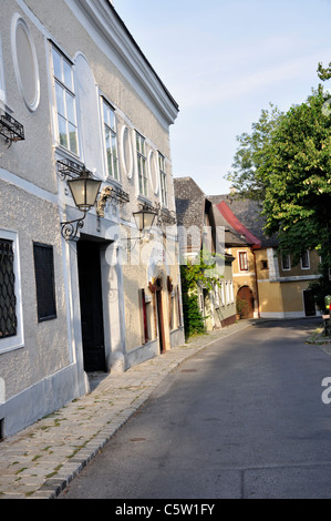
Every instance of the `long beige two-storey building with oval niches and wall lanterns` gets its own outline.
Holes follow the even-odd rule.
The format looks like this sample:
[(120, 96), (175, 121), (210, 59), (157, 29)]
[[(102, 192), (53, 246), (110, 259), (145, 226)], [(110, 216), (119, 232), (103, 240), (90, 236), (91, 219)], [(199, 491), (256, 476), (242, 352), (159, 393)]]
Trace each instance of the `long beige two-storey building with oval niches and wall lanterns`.
[(2, 0), (0, 111), (1, 438), (184, 334), (178, 105), (112, 2)]

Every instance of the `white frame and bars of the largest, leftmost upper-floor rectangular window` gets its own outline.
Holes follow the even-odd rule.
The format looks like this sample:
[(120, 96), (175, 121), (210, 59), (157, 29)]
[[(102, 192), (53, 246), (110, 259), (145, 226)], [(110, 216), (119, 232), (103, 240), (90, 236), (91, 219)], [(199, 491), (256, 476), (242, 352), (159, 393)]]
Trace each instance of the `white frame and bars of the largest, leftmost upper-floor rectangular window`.
[[(54, 67), (54, 53), (59, 54), (61, 59), (61, 78), (59, 78), (55, 74), (55, 67)], [(51, 45), (51, 54), (52, 54), (52, 72), (53, 72), (53, 89), (54, 89), (54, 102), (55, 102), (55, 115), (56, 115), (56, 140), (59, 146), (64, 149), (65, 151), (70, 152), (71, 154), (75, 156), (80, 156), (80, 140), (79, 140), (79, 123), (77, 123), (77, 106), (76, 106), (76, 94), (75, 94), (75, 85), (74, 85), (74, 70), (73, 70), (73, 63), (72, 61), (65, 57), (63, 52), (60, 51), (60, 49), (56, 48), (56, 45), (52, 44)], [(71, 85), (69, 85), (65, 81), (65, 72), (64, 72), (64, 63), (69, 67), (70, 72), (71, 72)], [(62, 102), (63, 102), (63, 111), (64, 113), (59, 112), (59, 106), (58, 106), (58, 94), (56, 94), (56, 85), (62, 92)], [(58, 91), (59, 92), (59, 91)], [(68, 98), (66, 98), (68, 96)], [(69, 103), (68, 99), (72, 99), (72, 116), (69, 115)], [(66, 139), (66, 144), (61, 143), (61, 131), (60, 131), (60, 121), (63, 120), (63, 124), (65, 126), (65, 139)], [(70, 126), (72, 125), (75, 135), (75, 149), (71, 146), (71, 140), (70, 140)], [(64, 134), (64, 132), (63, 132)]]

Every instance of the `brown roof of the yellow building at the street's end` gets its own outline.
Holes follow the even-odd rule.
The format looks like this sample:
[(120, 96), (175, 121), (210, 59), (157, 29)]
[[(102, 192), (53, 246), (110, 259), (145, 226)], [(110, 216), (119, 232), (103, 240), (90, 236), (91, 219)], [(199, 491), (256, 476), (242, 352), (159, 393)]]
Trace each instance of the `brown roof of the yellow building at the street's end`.
[(265, 218), (261, 215), (262, 207), (259, 203), (251, 201), (251, 200), (241, 200), (235, 195), (210, 195), (208, 200), (213, 204), (214, 215), (215, 215), (215, 223), (216, 226), (225, 226), (228, 229), (227, 242), (232, 239), (234, 246), (239, 244), (241, 241), (241, 245), (245, 243), (252, 244), (251, 239), (248, 237), (242, 237), (241, 234), (238, 232), (226, 221), (226, 218), (219, 212), (217, 205), (220, 203), (226, 203), (230, 211), (235, 214), (235, 216), (242, 223), (242, 225), (248, 228), (248, 231), (254, 234), (255, 237), (259, 239), (261, 243), (261, 247), (277, 247), (278, 242), (277, 237), (273, 235), (272, 237), (267, 237), (263, 232), (265, 227)]

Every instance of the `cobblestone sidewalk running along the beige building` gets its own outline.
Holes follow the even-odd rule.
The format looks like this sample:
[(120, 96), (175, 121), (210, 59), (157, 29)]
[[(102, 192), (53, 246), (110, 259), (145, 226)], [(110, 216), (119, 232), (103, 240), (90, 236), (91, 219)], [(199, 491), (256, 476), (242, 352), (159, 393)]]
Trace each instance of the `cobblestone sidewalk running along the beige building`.
[(124, 374), (92, 378), (93, 390), (0, 443), (0, 499), (54, 499), (185, 359), (251, 325), (240, 320)]

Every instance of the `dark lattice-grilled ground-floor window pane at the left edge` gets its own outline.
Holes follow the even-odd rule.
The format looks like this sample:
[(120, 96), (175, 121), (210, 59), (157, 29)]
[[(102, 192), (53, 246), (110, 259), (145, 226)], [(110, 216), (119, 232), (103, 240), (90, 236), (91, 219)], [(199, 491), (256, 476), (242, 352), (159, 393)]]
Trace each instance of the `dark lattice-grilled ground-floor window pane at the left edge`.
[(0, 238), (0, 338), (17, 335), (13, 242)]

